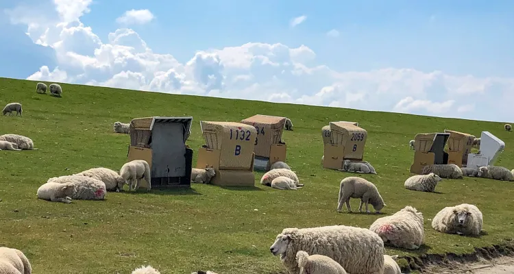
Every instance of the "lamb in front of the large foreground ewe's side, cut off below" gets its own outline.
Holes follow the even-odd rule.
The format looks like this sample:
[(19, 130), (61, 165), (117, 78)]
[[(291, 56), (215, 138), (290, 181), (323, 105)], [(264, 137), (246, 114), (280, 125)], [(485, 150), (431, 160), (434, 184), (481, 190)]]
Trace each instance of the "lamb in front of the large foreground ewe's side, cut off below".
[(300, 274), (347, 274), (341, 264), (324, 255), (314, 254), (309, 256), (305, 251), (298, 251), (296, 262)]

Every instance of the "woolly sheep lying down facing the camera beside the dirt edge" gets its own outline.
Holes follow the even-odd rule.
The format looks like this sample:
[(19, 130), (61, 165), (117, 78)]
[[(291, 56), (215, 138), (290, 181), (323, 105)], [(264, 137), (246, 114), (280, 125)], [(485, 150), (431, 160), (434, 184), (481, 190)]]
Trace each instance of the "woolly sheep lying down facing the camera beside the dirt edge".
[(478, 236), (483, 225), (482, 212), (469, 203), (447, 206), (432, 219), (432, 228), (446, 234)]

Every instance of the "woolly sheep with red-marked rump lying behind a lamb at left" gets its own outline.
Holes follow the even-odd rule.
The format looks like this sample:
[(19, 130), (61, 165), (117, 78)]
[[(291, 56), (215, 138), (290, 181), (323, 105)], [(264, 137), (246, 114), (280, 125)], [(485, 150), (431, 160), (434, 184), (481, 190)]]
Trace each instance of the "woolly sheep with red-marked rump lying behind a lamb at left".
[(73, 184), (77, 190), (72, 199), (77, 200), (103, 200), (106, 197), (106, 184), (99, 179), (81, 175), (64, 175), (60, 177), (51, 177), (47, 182), (55, 182), (59, 184)]

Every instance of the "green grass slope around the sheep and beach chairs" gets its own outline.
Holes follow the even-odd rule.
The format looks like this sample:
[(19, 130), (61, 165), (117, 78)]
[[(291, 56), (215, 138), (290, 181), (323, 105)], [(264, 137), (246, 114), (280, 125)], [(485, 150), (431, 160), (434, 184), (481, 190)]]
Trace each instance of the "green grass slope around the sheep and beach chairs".
[[(50, 83), (47, 83), (50, 84)], [(415, 253), (387, 249), (400, 256), (466, 253), (514, 238), (512, 182), (490, 179), (444, 180), (442, 194), (404, 189), (412, 174), (408, 141), (417, 133), (453, 129), (480, 136), (489, 131), (506, 143), (498, 165), (512, 169), (514, 134), (503, 123), (441, 119), (408, 114), (365, 112), (183, 95), (164, 95), (62, 84), (62, 98), (38, 95), (36, 82), (0, 78), (0, 105), (23, 103), (23, 118), (0, 116), (0, 134), (29, 136), (38, 151), (0, 151), (0, 244), (21, 249), (34, 273), (130, 273), (151, 264), (161, 273), (279, 273), (269, 252), (284, 227), (354, 225), (369, 227), (375, 214), (336, 212), (339, 182), (351, 173), (322, 169), (321, 127), (329, 121), (358, 121), (369, 136), (365, 160), (378, 175), (376, 184), (393, 214), (404, 206), (424, 213), (426, 246)], [(36, 199), (49, 177), (94, 166), (119, 170), (127, 158), (127, 134), (114, 134), (114, 121), (145, 116), (193, 116), (187, 144), (204, 144), (199, 121), (241, 121), (254, 114), (287, 116), (294, 132), (284, 132), (287, 162), (306, 185), (298, 191), (221, 188), (193, 184), (191, 191), (108, 193), (106, 201), (51, 203)], [(126, 187), (125, 187), (126, 188)], [(445, 206), (474, 203), (484, 213), (482, 238), (435, 232), (430, 221)], [(352, 199), (358, 208), (358, 199)], [(80, 270), (79, 270), (80, 269)]]

